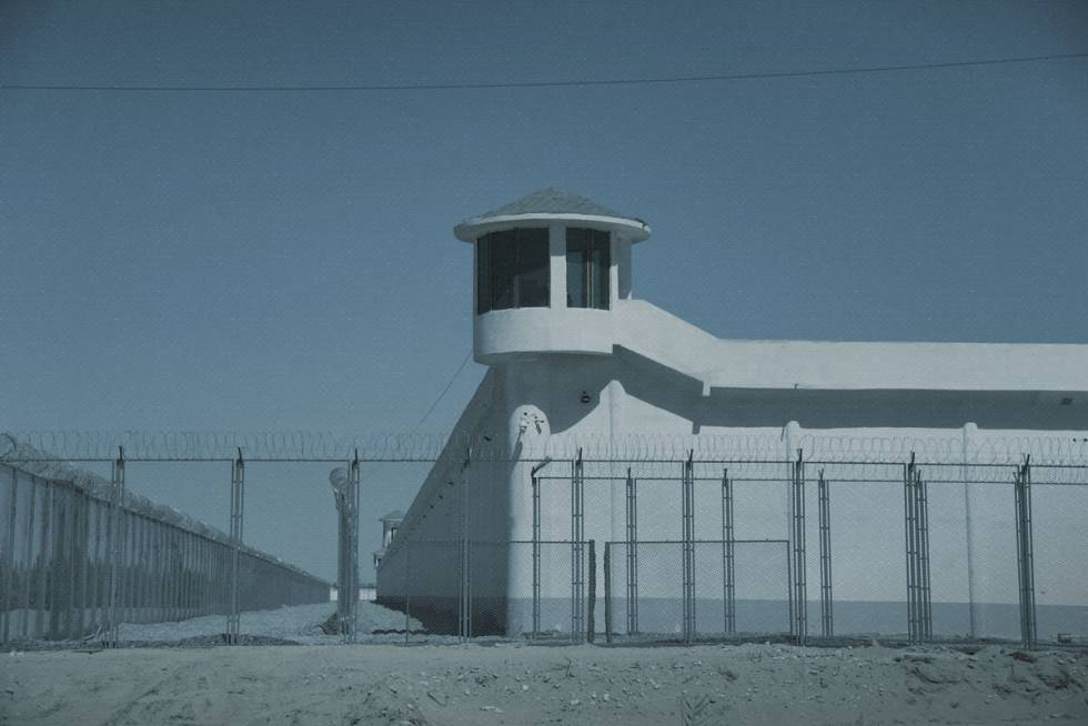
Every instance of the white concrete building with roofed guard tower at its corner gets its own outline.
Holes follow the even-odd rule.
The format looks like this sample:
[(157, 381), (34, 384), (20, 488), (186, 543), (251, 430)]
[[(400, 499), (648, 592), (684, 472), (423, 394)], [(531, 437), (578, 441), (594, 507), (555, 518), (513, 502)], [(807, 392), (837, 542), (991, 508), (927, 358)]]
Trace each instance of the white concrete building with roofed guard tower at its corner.
[[(905, 442), (929, 441), (935, 456), (967, 465), (980, 446), (1003, 438), (1088, 438), (1088, 345), (719, 339), (634, 298), (633, 252), (649, 236), (648, 224), (555, 189), (470, 219), (454, 234), (474, 252), (473, 352), (490, 370), (401, 534), (391, 541), (386, 530), (385, 548), (375, 553), (380, 601), (395, 604), (407, 573), (412, 582), (424, 577), (425, 596), (413, 593), (413, 612), (435, 622), (451, 622), (460, 592), (456, 547), (449, 544), (461, 532), (453, 486), (462, 477), (459, 442), (493, 442), (513, 462), (472, 464), (466, 496), (473, 538), (492, 543), (473, 554), (474, 627), (516, 635), (530, 627), (533, 567), (527, 545), (502, 543), (533, 537), (532, 467), (570, 457), (576, 446), (595, 448), (598, 458), (611, 447), (623, 458), (637, 442), (721, 451), (722, 442), (735, 441), (783, 458), (802, 447), (818, 456), (855, 440), (905, 456), (911, 445)], [(772, 273), (788, 271), (750, 271), (754, 279)], [(586, 538), (625, 538), (624, 473), (622, 464), (602, 464), (598, 481), (587, 483)], [(568, 475), (570, 465), (557, 474)], [(544, 538), (571, 536), (570, 496), (561, 486), (544, 484)], [(721, 515), (717, 495), (707, 496), (696, 521), (713, 536)], [(901, 488), (899, 496), (898, 505), (874, 504), (873, 517), (858, 514), (859, 526), (883, 522), (889, 507), (901, 517)], [(647, 483), (639, 497), (643, 536), (678, 540), (676, 487)], [(779, 487), (765, 498), (744, 504), (738, 526), (750, 537), (786, 536), (785, 493)], [(994, 506), (1010, 507), (1006, 498)], [(985, 527), (988, 503), (976, 506)], [(1014, 572), (1001, 578), (1015, 583)], [(557, 575), (555, 592), (568, 583)], [(977, 586), (976, 598), (985, 598), (987, 583)], [(842, 589), (875, 597), (866, 587), (859, 581)], [(547, 599), (546, 576), (543, 588)], [(562, 618), (554, 625), (563, 627)]]

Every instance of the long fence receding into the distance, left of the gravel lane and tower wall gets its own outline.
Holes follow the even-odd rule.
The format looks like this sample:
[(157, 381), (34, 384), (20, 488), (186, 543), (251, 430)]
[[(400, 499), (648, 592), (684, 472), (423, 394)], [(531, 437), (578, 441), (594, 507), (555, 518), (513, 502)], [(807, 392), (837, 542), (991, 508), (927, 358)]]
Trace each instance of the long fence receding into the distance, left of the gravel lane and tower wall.
[(234, 592), (234, 612), (328, 602), (328, 583), (95, 484), (0, 464), (0, 642), (115, 643), (121, 623), (229, 614)]

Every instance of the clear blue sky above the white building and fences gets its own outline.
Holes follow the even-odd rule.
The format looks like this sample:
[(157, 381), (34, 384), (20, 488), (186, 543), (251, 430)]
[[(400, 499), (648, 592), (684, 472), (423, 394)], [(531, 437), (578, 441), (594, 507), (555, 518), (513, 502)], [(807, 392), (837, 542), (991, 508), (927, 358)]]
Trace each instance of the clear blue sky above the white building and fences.
[[(0, 3), (0, 84), (1086, 51), (1085, 2)], [(471, 346), (452, 226), (547, 185), (647, 220), (635, 295), (719, 336), (1085, 343), (1086, 119), (1088, 59), (0, 90), (0, 430), (412, 430)], [(423, 428), (447, 430), (483, 372)], [(225, 527), (229, 472), (195, 471), (130, 485)], [(372, 472), (374, 518), (424, 473)], [(254, 474), (246, 532), (331, 575), (326, 474)]]

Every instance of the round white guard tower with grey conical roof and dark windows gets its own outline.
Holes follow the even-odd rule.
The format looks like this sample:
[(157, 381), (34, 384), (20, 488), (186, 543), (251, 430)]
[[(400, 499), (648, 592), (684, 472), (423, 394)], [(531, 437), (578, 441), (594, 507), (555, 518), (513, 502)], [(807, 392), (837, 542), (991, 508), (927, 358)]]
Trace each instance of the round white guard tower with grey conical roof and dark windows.
[(649, 225), (548, 188), (454, 234), (475, 249), (476, 362), (612, 353), (616, 302), (631, 298), (631, 246)]

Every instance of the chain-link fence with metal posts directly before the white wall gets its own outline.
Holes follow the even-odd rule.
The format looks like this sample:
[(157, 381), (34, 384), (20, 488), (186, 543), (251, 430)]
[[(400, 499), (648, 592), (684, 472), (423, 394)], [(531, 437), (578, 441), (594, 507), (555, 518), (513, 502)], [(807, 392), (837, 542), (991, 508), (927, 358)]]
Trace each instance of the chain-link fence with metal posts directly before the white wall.
[(602, 544), (610, 641), (1088, 638), (1088, 466), (693, 452), (552, 462), (533, 491), (540, 536)]

